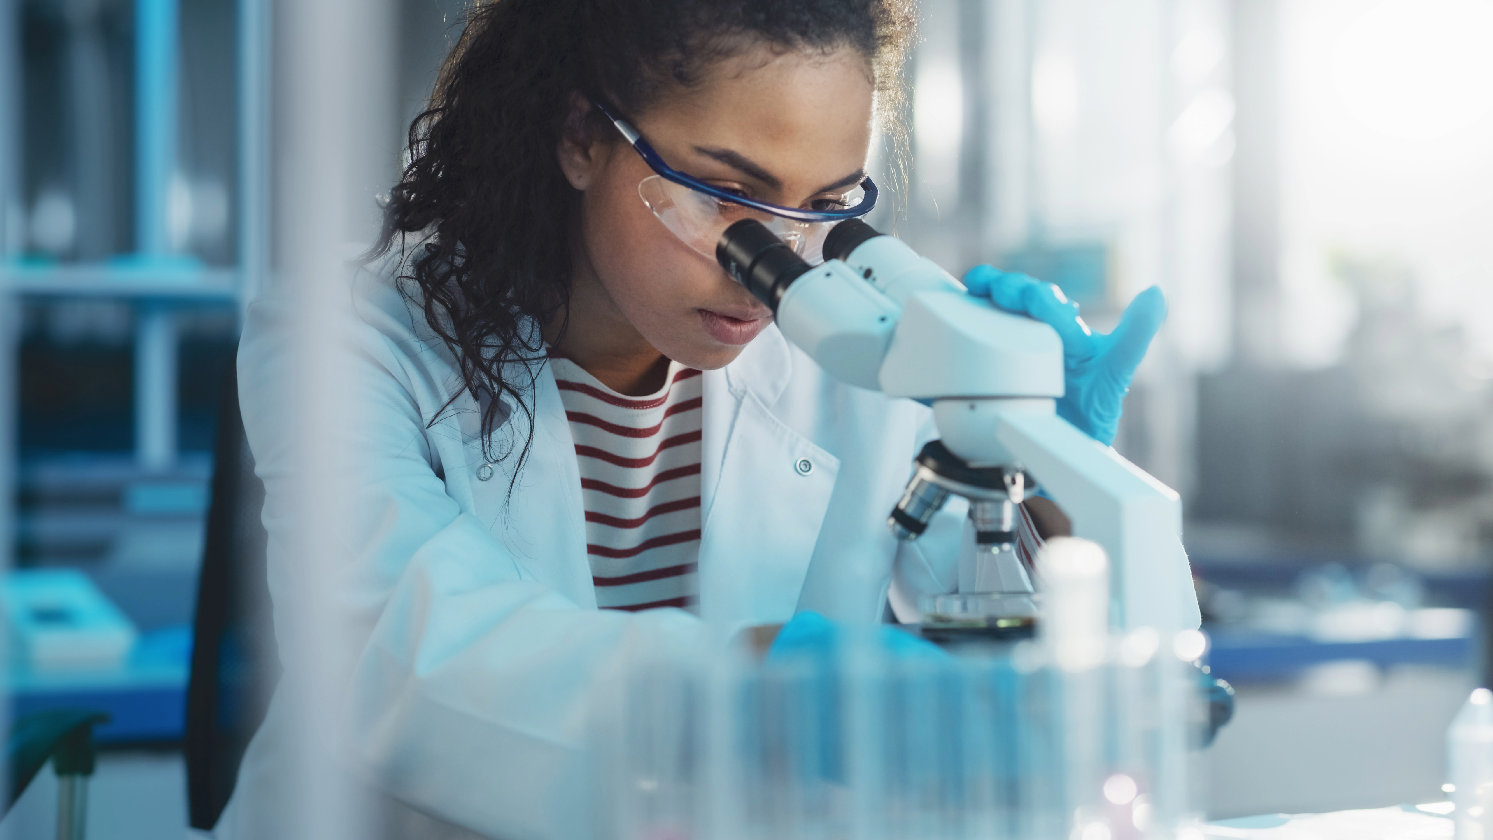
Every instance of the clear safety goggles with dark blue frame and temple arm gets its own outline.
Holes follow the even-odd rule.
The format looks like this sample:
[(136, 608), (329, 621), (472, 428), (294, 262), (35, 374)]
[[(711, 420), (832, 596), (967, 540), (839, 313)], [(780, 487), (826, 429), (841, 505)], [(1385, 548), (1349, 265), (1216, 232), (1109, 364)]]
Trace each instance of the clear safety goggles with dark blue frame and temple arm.
[(847, 218), (866, 215), (876, 206), (876, 185), (870, 178), (844, 193), (818, 199), (817, 202), (832, 205), (823, 209), (787, 208), (733, 194), (672, 169), (614, 109), (596, 99), (591, 103), (612, 121), (612, 126), (617, 126), (642, 155), (643, 163), (657, 172), (638, 185), (638, 194), (648, 209), (685, 245), (711, 260), (715, 259), (715, 244), (727, 227), (744, 218), (755, 218), (799, 256), (818, 263), (823, 260), (824, 238), (829, 236), (830, 227)]

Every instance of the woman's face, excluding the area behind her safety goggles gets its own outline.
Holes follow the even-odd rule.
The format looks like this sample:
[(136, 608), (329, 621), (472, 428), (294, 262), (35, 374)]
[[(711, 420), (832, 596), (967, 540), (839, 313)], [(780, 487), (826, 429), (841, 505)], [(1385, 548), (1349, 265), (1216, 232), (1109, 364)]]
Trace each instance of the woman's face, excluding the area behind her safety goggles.
[[(797, 208), (844, 193), (827, 187), (861, 173), (872, 96), (869, 67), (854, 51), (760, 48), (627, 117), (670, 167)], [(648, 209), (638, 185), (654, 172), (630, 145), (563, 140), (560, 163), (584, 191), (575, 293), (614, 309), (596, 312), (603, 317), (594, 326), (624, 329), (626, 321), (666, 357), (700, 369), (736, 359), (767, 326), (772, 312), (763, 303)], [(581, 288), (587, 282), (600, 288)], [(570, 329), (591, 329), (576, 323), (575, 309)]]

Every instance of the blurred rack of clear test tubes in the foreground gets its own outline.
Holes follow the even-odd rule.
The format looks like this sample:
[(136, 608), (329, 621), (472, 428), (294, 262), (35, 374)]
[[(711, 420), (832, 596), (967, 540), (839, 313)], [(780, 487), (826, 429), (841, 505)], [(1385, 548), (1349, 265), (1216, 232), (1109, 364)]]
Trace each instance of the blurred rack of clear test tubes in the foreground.
[(1114, 632), (1084, 540), (1038, 562), (1036, 638), (902, 656), (873, 628), (757, 658), (639, 640), (593, 717), (617, 840), (1200, 837), (1197, 631)]

